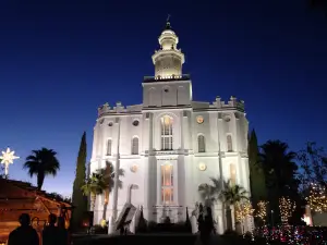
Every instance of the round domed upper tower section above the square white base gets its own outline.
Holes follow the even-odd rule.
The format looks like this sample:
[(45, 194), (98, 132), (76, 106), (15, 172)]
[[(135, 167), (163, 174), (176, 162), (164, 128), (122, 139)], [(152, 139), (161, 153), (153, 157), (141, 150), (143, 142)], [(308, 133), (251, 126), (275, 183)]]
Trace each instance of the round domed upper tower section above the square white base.
[(158, 40), (160, 49), (153, 54), (155, 76), (160, 78), (181, 76), (182, 65), (185, 62), (184, 53), (177, 48), (179, 38), (171, 29), (169, 19)]

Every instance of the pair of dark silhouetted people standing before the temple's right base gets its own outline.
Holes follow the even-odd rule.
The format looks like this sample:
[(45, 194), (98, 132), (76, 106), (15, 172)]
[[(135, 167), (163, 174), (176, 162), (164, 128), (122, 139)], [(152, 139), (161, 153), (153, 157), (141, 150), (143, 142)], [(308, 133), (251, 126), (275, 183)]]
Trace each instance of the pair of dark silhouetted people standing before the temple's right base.
[(210, 234), (215, 232), (214, 219), (213, 219), (213, 211), (210, 207), (206, 207), (206, 212), (204, 211), (204, 207), (201, 204), (198, 207), (198, 231), (199, 231), (199, 238), (202, 244), (207, 245), (210, 240)]

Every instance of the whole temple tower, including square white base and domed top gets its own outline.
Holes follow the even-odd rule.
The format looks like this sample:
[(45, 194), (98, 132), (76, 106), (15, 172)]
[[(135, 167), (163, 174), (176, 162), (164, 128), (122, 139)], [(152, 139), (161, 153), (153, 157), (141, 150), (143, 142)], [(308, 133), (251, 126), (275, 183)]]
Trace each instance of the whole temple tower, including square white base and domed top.
[(190, 75), (182, 73), (184, 53), (178, 49), (179, 37), (169, 20), (158, 38), (160, 49), (153, 54), (155, 75), (143, 82), (143, 108), (183, 107), (192, 101)]

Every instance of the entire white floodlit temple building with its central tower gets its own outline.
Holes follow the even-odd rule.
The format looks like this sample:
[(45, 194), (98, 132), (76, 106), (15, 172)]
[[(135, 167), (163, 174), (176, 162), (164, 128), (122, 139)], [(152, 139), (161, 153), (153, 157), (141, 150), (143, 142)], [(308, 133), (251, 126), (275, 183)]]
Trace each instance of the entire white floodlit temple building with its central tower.
[[(143, 207), (148, 221), (169, 216), (171, 222), (184, 222), (186, 207), (191, 216), (202, 201), (198, 186), (220, 175), (250, 192), (244, 102), (235, 97), (194, 101), (191, 77), (182, 73), (184, 53), (169, 22), (158, 40), (160, 49), (152, 57), (155, 75), (144, 77), (142, 103), (98, 108), (90, 172), (106, 161), (124, 170), (123, 187), (109, 195), (108, 220), (117, 220), (131, 203)], [(95, 224), (102, 213), (104, 196), (98, 196)], [(214, 216), (222, 233), (221, 204), (215, 205)]]

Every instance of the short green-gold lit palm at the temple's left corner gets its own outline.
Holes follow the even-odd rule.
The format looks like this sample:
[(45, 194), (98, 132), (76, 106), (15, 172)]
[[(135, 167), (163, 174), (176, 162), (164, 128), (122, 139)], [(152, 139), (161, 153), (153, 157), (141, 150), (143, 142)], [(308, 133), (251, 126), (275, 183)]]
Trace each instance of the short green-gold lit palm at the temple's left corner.
[(86, 180), (85, 184), (81, 187), (85, 196), (90, 195), (90, 210), (94, 211), (97, 195), (100, 195), (106, 189), (107, 185), (105, 182), (101, 170), (98, 170)]

